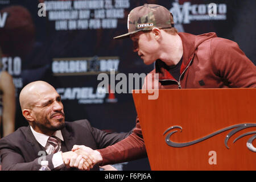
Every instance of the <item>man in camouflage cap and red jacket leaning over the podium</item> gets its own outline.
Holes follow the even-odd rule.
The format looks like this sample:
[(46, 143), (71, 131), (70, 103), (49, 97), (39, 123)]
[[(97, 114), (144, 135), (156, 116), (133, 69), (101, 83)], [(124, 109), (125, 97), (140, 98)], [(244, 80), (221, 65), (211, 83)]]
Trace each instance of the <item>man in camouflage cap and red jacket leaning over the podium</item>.
[[(237, 43), (213, 32), (178, 33), (172, 14), (163, 6), (145, 4), (131, 10), (127, 28), (127, 34), (114, 39), (130, 38), (134, 52), (145, 64), (155, 62), (151, 73), (159, 74), (160, 89), (256, 87), (256, 67)], [(94, 155), (101, 166), (146, 156), (138, 118), (133, 133), (121, 142), (98, 151), (81, 148)]]

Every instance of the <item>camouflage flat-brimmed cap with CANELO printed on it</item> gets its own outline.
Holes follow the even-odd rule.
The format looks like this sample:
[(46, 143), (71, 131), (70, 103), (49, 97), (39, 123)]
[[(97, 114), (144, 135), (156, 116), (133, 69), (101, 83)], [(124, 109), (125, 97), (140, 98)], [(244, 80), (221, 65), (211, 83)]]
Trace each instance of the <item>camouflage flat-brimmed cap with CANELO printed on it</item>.
[(129, 38), (138, 31), (152, 30), (152, 28), (174, 27), (174, 19), (169, 10), (160, 5), (144, 4), (130, 11), (127, 18), (128, 33), (114, 37), (114, 39)]

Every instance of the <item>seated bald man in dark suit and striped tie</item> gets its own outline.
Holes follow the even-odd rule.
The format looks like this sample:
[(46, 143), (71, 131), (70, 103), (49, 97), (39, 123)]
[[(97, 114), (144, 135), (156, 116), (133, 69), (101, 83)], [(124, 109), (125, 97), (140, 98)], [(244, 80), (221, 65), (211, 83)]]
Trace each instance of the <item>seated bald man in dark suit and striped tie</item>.
[[(38, 170), (42, 158), (48, 160), (51, 170), (89, 169), (93, 158), (72, 152), (75, 144), (100, 149), (129, 135), (105, 133), (90, 126), (87, 120), (65, 122), (59, 94), (44, 81), (26, 85), (19, 101), (30, 125), (0, 140), (2, 170)], [(93, 169), (99, 167), (95, 165)]]

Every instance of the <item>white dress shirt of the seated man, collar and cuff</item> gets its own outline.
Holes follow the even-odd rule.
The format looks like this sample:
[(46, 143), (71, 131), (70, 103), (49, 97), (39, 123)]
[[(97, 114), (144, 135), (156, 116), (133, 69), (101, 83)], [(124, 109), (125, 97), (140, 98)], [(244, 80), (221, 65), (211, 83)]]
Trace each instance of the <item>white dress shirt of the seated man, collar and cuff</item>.
[[(51, 137), (51, 136), (44, 135), (42, 133), (38, 133), (31, 126), (30, 126), (30, 129), (32, 131), (32, 134), (35, 136), (35, 139), (38, 141), (38, 143), (40, 143), (44, 147), (44, 149), (46, 150), (47, 154), (51, 154), (51, 152), (54, 150), (54, 147), (47, 142), (49, 137)], [(53, 136), (58, 138), (58, 142), (59, 142), (60, 148), (61, 148), (61, 140), (64, 141), (63, 136), (61, 134), (61, 131), (57, 130), (53, 134)], [(64, 162), (63, 162), (61, 153), (62, 153), (61, 151), (60, 152), (56, 152), (52, 156), (52, 164), (53, 164), (54, 168), (60, 168), (60, 167), (64, 166)]]

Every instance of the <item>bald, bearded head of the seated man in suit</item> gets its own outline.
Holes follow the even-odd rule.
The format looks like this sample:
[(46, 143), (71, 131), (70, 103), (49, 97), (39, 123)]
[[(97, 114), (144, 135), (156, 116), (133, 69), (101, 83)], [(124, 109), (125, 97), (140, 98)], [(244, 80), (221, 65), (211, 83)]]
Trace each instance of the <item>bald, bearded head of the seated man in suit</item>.
[(23, 116), (33, 129), (51, 136), (63, 129), (65, 114), (60, 95), (45, 81), (35, 81), (24, 86), (19, 95)]

